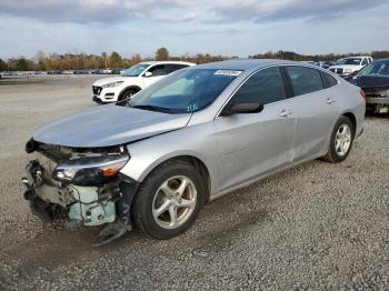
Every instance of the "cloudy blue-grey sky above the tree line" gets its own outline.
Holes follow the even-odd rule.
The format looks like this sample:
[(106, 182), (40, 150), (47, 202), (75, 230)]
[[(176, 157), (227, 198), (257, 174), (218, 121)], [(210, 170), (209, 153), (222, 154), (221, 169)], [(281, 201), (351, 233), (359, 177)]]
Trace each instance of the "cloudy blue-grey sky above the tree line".
[(389, 0), (0, 0), (0, 58), (389, 50)]

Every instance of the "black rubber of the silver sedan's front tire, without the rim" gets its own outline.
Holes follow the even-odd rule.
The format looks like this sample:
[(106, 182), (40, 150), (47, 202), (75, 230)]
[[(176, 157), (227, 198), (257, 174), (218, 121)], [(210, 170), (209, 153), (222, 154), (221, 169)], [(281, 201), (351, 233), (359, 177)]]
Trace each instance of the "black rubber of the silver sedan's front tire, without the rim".
[[(183, 224), (178, 225), (177, 228), (167, 229), (159, 225), (153, 217), (153, 209), (156, 209), (154, 198), (158, 197), (157, 193), (161, 195), (161, 191), (158, 192), (158, 190), (167, 180), (173, 177), (189, 178), (192, 181), (192, 185), (196, 188), (197, 198), (196, 204), (193, 203), (194, 207), (192, 208), (192, 212), (188, 215), (188, 219)], [(191, 163), (184, 160), (167, 161), (154, 169), (141, 183), (131, 207), (132, 222), (137, 229), (154, 239), (164, 240), (173, 238), (184, 232), (193, 224), (202, 207), (205, 189), (205, 183), (201, 180), (199, 171), (197, 171)], [(166, 198), (163, 197), (163, 199)], [(169, 212), (166, 212), (164, 214), (170, 215)]]

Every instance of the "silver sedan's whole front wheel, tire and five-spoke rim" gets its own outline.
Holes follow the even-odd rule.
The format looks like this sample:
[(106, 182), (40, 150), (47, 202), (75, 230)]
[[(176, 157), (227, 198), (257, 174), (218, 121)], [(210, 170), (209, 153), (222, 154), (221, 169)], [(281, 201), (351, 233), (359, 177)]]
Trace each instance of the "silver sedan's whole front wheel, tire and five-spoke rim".
[(132, 221), (152, 238), (173, 238), (192, 225), (203, 195), (201, 177), (192, 164), (164, 162), (140, 185), (132, 203)]

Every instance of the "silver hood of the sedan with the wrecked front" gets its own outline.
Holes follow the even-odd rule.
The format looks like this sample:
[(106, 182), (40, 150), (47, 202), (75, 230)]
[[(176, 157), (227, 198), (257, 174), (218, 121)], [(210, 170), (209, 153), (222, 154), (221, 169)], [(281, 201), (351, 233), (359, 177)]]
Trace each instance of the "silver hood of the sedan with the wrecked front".
[(100, 106), (43, 126), (39, 142), (73, 148), (123, 144), (187, 126), (191, 113), (168, 114), (116, 104)]

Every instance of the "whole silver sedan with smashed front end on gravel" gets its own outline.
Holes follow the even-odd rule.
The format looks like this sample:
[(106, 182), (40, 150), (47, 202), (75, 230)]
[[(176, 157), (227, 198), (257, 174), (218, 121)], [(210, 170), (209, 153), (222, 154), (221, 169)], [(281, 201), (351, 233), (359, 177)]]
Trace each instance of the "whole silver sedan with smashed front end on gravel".
[(40, 128), (24, 198), (42, 220), (186, 231), (203, 203), (308, 160), (343, 161), (363, 129), (360, 89), (318, 67), (230, 60), (189, 67), (126, 99)]

